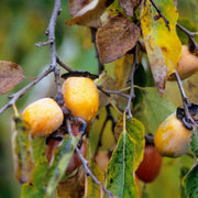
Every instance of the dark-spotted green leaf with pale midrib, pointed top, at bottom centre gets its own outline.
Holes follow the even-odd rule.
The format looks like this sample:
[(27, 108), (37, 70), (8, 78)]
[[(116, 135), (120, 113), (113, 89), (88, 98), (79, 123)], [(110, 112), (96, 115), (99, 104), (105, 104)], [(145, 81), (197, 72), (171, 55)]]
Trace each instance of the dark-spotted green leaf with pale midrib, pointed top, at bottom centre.
[(134, 180), (135, 141), (123, 130), (107, 167), (107, 188), (117, 198), (138, 197)]

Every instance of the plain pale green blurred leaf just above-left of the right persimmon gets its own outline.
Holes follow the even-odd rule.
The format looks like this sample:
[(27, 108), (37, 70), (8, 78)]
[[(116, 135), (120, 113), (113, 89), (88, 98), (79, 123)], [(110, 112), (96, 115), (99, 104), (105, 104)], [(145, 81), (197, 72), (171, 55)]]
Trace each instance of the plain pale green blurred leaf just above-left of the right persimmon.
[(155, 133), (158, 125), (172, 114), (176, 108), (174, 105), (166, 98), (166, 96), (160, 97), (156, 88), (146, 87), (140, 88), (144, 96), (144, 107), (145, 107), (145, 117), (147, 120), (147, 130), (150, 133)]

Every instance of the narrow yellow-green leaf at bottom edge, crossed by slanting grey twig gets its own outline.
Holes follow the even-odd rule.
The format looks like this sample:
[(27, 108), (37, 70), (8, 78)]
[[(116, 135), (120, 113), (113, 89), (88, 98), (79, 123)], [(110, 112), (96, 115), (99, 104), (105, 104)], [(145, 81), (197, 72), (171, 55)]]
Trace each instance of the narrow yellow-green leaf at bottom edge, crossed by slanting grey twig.
[[(94, 161), (89, 161), (89, 167), (91, 169), (91, 173), (97, 177), (98, 180), (100, 180), (101, 185), (105, 185), (105, 175), (101, 172), (101, 169), (98, 167), (98, 165)], [(88, 184), (87, 184), (87, 196), (88, 197), (101, 197), (100, 187), (92, 180), (91, 177), (88, 177)]]

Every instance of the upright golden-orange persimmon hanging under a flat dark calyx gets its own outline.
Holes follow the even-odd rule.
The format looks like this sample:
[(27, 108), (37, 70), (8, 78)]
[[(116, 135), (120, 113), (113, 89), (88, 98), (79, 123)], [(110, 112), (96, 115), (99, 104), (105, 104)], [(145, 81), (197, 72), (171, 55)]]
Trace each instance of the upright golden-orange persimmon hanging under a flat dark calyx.
[(62, 87), (66, 107), (74, 117), (90, 121), (99, 108), (99, 96), (95, 82), (86, 77), (69, 77)]

